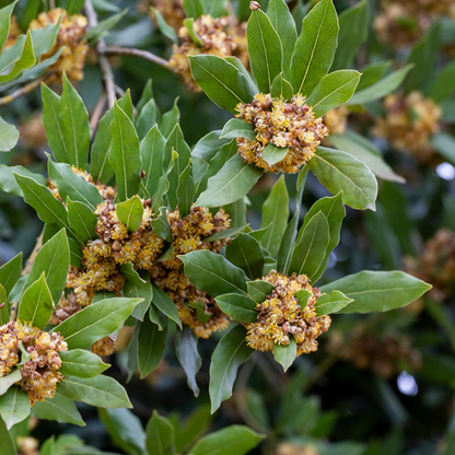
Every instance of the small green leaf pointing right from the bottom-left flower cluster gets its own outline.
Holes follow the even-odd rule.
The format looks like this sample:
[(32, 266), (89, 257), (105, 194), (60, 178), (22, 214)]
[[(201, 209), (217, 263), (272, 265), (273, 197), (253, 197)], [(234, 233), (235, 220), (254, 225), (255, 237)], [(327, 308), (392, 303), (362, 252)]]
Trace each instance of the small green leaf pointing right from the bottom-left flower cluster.
[(61, 359), (60, 373), (65, 376), (95, 377), (110, 365), (104, 363), (100, 355), (83, 349), (71, 349), (59, 352)]

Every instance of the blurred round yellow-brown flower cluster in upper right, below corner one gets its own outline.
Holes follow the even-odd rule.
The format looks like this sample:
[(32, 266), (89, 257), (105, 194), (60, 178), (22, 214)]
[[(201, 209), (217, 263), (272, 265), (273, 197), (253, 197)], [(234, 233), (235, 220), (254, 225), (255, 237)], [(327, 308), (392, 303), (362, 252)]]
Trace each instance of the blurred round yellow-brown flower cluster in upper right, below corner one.
[(389, 95), (385, 116), (376, 120), (373, 133), (385, 137), (399, 151), (410, 151), (421, 164), (434, 158), (431, 137), (440, 131), (441, 108), (420, 92)]

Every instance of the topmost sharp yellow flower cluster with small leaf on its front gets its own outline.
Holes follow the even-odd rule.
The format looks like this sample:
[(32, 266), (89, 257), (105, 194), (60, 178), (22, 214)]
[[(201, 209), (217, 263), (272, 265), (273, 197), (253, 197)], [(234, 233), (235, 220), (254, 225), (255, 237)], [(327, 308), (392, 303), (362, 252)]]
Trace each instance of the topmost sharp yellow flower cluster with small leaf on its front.
[[(322, 118), (315, 118), (313, 108), (305, 104), (305, 97), (298, 94), (290, 102), (281, 96), (257, 94), (249, 104), (240, 103), (236, 117), (252, 124), (256, 140), (237, 138), (238, 153), (246, 163), (254, 163), (266, 171), (295, 174), (313, 156), (320, 141), (328, 136)], [(262, 160), (268, 143), (289, 148), (285, 158), (270, 166)]]

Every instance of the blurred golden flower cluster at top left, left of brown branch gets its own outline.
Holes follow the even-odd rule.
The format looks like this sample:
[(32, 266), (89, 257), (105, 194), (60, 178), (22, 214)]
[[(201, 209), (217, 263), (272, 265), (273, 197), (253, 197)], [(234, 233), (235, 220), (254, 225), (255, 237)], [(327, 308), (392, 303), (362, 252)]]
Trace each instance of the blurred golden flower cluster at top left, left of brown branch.
[(65, 46), (59, 59), (48, 69), (51, 74), (47, 79), (48, 83), (61, 81), (63, 71), (71, 81), (81, 81), (84, 78), (83, 69), (85, 57), (89, 52), (89, 45), (84, 39), (88, 20), (80, 14), (68, 16), (61, 8), (43, 12), (36, 20), (30, 23), (30, 30), (44, 28), (49, 24), (57, 24), (61, 16), (60, 30), (54, 47), (42, 56), (42, 59), (52, 57)]

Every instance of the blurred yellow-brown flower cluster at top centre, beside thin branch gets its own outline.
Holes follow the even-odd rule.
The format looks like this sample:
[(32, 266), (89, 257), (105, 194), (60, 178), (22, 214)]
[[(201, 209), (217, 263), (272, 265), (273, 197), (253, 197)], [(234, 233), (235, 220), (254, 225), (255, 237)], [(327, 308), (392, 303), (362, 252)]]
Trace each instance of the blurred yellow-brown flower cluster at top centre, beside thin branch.
[(178, 36), (180, 46), (173, 46), (173, 55), (170, 59), (174, 72), (184, 78), (185, 84), (194, 92), (201, 89), (195, 82), (189, 68), (187, 56), (200, 54), (215, 55), (219, 57), (238, 57), (245, 66), (248, 66), (248, 52), (246, 47), (246, 28), (238, 24), (235, 18), (225, 16), (213, 19), (206, 14), (195, 21), (194, 31), (201, 42), (201, 46), (192, 42), (187, 27), (180, 27)]

